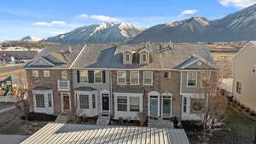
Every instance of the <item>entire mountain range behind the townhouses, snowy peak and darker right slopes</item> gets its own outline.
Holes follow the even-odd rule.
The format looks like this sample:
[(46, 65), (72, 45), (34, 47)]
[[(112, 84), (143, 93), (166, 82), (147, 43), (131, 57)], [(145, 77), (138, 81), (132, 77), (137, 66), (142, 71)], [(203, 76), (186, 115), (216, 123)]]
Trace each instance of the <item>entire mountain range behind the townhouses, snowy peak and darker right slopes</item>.
[(83, 26), (43, 41), (55, 43), (235, 42), (256, 39), (256, 4), (223, 19), (192, 17), (144, 29), (130, 23)]

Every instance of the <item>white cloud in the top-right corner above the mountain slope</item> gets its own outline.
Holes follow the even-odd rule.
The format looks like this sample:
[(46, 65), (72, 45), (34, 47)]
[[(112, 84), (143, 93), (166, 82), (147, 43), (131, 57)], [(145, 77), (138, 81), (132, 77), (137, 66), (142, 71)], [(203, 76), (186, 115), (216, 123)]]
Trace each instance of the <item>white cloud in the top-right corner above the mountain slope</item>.
[(256, 0), (220, 0), (219, 3), (225, 7), (246, 8), (256, 3)]

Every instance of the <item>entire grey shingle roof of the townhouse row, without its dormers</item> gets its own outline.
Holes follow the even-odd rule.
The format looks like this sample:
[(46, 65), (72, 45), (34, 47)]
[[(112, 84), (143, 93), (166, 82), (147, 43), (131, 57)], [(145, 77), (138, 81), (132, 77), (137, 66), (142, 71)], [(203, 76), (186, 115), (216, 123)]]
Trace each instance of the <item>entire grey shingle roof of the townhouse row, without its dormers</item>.
[[(72, 49), (72, 52), (70, 52)], [(131, 65), (123, 65), (123, 52), (147, 50), (150, 61), (148, 65), (140, 65), (135, 60)], [(54, 66), (33, 66), (34, 61), (44, 58)], [(204, 43), (144, 43), (138, 44), (86, 44), (75, 46), (54, 46), (46, 48), (34, 59), (28, 62), (25, 68), (71, 68), (71, 69), (183, 69), (183, 66), (202, 60), (213, 67), (213, 59)]]

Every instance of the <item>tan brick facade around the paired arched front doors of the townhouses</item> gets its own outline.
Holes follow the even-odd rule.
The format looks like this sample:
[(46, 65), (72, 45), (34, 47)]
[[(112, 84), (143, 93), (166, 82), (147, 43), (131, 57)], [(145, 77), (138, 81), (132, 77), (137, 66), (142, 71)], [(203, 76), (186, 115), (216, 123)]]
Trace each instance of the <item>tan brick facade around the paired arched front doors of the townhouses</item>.
[[(171, 78), (165, 78), (165, 72), (171, 72)], [(143, 85), (143, 71), (139, 71), (139, 85), (130, 85), (130, 71), (126, 71), (126, 84), (118, 85), (117, 71), (111, 71), (113, 89), (144, 89), (143, 112), (148, 115), (148, 93), (158, 91), (160, 94), (172, 93), (172, 115), (181, 117), (182, 97), (180, 91), (180, 72), (177, 71), (153, 71), (153, 85)]]

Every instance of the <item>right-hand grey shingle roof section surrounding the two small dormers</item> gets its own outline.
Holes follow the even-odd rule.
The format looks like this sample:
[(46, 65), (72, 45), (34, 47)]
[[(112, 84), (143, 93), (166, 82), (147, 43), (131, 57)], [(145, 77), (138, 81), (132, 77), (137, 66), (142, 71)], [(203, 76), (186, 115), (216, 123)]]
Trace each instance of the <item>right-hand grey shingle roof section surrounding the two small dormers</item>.
[(132, 65), (123, 65), (122, 51), (124, 49), (144, 49), (143, 43), (119, 45), (113, 56), (111, 68), (113, 69), (177, 69), (191, 55), (200, 57), (208, 63), (213, 63), (212, 55), (204, 43), (151, 43), (150, 62), (148, 65), (140, 65), (138, 62)]

